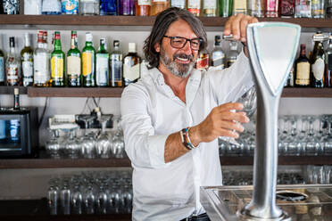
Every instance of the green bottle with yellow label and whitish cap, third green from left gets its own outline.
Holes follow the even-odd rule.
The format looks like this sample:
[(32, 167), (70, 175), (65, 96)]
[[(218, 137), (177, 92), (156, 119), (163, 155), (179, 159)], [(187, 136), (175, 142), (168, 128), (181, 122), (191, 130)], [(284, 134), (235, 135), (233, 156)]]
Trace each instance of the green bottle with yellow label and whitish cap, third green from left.
[(86, 46), (82, 50), (83, 86), (95, 86), (95, 48), (92, 34), (86, 33)]

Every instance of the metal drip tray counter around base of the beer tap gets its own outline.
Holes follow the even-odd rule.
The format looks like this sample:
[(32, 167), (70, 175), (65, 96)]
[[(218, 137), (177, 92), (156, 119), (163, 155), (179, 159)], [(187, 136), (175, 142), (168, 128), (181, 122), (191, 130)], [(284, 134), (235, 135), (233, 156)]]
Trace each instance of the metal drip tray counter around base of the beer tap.
[[(253, 186), (201, 187), (201, 203), (212, 221), (235, 221), (252, 193)], [(332, 221), (332, 185), (279, 185), (276, 198), (291, 220)]]

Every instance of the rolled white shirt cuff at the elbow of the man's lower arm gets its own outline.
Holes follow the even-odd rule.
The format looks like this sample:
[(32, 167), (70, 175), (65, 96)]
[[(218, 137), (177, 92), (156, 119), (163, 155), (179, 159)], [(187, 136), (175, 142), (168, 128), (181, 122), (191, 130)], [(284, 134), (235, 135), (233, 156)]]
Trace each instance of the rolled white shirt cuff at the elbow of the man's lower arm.
[(151, 166), (158, 167), (165, 165), (164, 154), (167, 137), (169, 135), (149, 135), (147, 137)]

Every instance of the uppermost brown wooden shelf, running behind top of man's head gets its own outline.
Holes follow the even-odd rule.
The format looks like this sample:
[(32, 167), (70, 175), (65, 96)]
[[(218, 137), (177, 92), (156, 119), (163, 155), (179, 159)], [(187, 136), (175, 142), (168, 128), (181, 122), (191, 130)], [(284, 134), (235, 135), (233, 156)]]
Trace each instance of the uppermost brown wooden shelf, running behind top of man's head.
[[(199, 17), (205, 27), (221, 27), (228, 18)], [(154, 16), (82, 16), (82, 15), (22, 15), (0, 14), (0, 25), (60, 25), (60, 26), (152, 26)], [(260, 21), (284, 21), (303, 28), (332, 28), (331, 19), (261, 18)]]

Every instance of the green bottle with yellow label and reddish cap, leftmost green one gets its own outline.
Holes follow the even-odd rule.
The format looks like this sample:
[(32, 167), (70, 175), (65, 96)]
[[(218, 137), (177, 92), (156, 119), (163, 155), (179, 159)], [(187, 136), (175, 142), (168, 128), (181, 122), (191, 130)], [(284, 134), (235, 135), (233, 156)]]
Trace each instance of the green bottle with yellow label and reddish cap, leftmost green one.
[(64, 59), (62, 52), (60, 31), (54, 33), (54, 51), (51, 53), (51, 85), (64, 86)]

